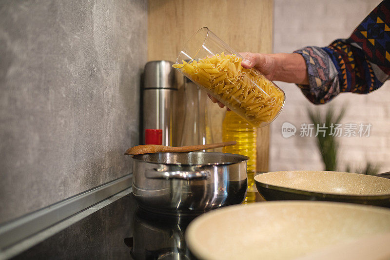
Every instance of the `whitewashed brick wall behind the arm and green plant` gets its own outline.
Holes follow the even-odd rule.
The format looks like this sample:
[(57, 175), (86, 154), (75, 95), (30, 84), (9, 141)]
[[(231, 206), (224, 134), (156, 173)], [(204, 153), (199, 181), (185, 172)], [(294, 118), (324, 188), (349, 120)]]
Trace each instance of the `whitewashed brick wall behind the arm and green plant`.
[[(292, 52), (304, 46), (326, 46), (347, 38), (380, 0), (274, 0), (273, 52)], [(310, 123), (306, 108), (347, 105), (343, 123), (371, 123), (370, 137), (342, 137), (339, 170), (366, 161), (390, 171), (390, 82), (368, 95), (342, 93), (325, 105), (312, 105), (294, 84), (275, 82), (286, 93), (286, 104), (271, 125), (270, 170), (323, 169), (315, 138), (299, 137), (302, 123)], [(283, 122), (297, 127), (296, 136), (281, 135)]]

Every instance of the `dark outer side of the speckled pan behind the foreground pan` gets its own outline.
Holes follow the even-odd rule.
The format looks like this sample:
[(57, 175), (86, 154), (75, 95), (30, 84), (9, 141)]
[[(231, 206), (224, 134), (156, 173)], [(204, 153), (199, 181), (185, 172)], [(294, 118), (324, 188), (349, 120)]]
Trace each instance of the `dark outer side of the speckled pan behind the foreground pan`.
[(275, 186), (271, 184), (266, 184), (257, 180), (254, 180), (256, 184), (259, 184), (261, 187), (266, 189), (273, 189), (277, 191), (284, 191), (284, 192), (290, 192), (294, 194), (300, 194), (300, 195), (315, 195), (322, 198), (332, 198), (332, 199), (364, 199), (364, 200), (386, 200), (390, 199), (390, 193), (385, 195), (342, 195), (337, 193), (322, 193), (322, 192), (315, 192), (315, 191), (307, 191), (307, 190), (299, 190), (299, 189), (292, 189), (282, 186)]

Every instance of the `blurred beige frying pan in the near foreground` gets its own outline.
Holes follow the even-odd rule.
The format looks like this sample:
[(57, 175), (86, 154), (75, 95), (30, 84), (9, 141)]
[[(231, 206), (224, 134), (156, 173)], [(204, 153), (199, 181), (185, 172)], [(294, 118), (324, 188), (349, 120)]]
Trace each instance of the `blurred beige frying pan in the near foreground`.
[[(190, 223), (185, 236), (199, 259), (290, 260), (329, 256), (332, 247), (337, 251), (340, 245), (350, 248), (367, 238), (369, 242), (386, 239), (389, 232), (390, 209), (327, 201), (271, 201), (205, 213)], [(373, 248), (382, 250), (376, 256), (384, 258), (372, 259), (390, 258), (386, 247), (360, 250), (371, 256)]]

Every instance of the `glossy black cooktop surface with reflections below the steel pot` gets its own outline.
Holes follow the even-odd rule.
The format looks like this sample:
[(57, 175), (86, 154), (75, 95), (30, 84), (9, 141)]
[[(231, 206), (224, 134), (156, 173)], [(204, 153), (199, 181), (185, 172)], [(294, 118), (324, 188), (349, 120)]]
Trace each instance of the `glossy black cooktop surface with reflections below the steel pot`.
[(192, 219), (146, 212), (129, 194), (13, 259), (193, 260), (184, 240)]

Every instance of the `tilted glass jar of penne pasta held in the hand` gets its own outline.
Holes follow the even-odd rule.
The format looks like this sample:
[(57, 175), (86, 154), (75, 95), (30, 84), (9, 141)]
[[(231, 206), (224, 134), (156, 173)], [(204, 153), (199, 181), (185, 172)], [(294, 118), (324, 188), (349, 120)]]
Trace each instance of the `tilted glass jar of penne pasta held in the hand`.
[(285, 95), (259, 71), (241, 67), (242, 60), (203, 27), (187, 41), (173, 67), (254, 127), (262, 127), (280, 113)]

